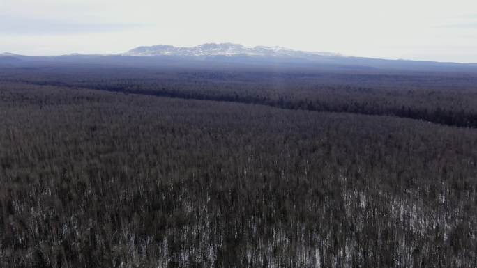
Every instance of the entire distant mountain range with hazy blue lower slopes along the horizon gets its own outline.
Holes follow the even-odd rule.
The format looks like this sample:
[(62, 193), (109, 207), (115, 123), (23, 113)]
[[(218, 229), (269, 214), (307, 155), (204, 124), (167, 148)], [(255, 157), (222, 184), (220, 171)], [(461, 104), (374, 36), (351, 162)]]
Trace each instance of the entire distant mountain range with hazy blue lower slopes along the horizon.
[(469, 63), (363, 58), (330, 52), (303, 52), (283, 47), (245, 47), (233, 43), (208, 43), (195, 47), (153, 45), (136, 47), (121, 54), (69, 54), (62, 56), (0, 54), (0, 66), (23, 68), (72, 64), (140, 68), (311, 68), (332, 72), (407, 70), (409, 72), (477, 73), (477, 64)]

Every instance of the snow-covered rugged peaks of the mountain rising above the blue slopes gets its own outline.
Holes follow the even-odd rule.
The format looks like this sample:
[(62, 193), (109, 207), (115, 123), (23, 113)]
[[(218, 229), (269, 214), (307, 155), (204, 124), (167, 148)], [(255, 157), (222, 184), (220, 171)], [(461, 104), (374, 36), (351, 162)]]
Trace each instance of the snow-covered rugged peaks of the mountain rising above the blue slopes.
[(155, 45), (137, 47), (123, 54), (124, 56), (264, 56), (264, 57), (293, 57), (308, 56), (340, 56), (328, 52), (302, 52), (283, 47), (244, 47), (232, 43), (209, 43), (196, 47), (174, 47), (172, 45)]

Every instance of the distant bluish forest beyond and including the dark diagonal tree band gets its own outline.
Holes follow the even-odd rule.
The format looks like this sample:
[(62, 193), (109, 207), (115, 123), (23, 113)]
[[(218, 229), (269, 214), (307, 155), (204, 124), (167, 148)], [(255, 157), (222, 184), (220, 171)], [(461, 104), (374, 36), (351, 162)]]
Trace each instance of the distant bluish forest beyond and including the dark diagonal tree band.
[(91, 67), (2, 71), (0, 79), (4, 81), (37, 85), (397, 116), (457, 127), (477, 127), (475, 74)]

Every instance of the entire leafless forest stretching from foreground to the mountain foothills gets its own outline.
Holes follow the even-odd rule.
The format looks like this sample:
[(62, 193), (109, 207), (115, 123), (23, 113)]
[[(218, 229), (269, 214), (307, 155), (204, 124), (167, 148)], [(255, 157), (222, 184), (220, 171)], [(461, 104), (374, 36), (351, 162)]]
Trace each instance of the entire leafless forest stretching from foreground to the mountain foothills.
[(477, 75), (1, 68), (0, 267), (477, 267)]

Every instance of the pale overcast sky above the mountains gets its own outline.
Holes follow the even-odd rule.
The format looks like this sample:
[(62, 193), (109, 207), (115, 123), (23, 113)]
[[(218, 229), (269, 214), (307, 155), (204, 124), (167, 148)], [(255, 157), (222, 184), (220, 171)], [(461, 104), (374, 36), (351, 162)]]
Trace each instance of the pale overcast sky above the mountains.
[(477, 1), (0, 0), (0, 53), (207, 42), (477, 63)]

